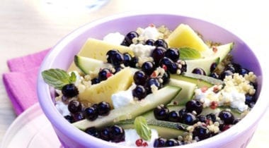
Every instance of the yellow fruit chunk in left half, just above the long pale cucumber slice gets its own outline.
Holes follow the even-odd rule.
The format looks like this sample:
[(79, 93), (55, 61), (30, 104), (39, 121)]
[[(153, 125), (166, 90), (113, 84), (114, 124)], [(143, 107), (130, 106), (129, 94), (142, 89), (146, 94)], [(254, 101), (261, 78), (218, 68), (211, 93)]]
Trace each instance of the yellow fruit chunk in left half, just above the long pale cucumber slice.
[(124, 68), (107, 80), (92, 85), (83, 92), (79, 92), (79, 99), (91, 103), (107, 101), (110, 106), (113, 106), (111, 95), (127, 90), (132, 85), (132, 80), (132, 70)]

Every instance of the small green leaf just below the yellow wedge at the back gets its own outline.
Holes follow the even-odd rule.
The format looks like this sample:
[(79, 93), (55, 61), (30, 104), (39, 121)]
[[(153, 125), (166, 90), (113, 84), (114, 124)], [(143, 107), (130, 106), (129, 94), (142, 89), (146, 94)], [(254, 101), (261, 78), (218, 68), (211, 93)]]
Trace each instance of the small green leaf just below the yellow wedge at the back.
[(201, 58), (200, 52), (195, 49), (191, 49), (189, 47), (181, 47), (178, 50), (181, 53), (180, 58), (182, 60), (193, 60), (193, 59)]

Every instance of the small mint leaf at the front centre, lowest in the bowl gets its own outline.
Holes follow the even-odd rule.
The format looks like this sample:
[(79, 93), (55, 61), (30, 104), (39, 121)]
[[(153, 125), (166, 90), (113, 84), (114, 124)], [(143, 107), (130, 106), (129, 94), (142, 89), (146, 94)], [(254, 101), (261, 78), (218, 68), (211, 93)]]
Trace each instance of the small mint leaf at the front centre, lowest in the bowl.
[(137, 134), (143, 139), (143, 140), (150, 140), (151, 139), (151, 129), (147, 125), (147, 120), (143, 116), (138, 116), (135, 118), (135, 130), (137, 131)]

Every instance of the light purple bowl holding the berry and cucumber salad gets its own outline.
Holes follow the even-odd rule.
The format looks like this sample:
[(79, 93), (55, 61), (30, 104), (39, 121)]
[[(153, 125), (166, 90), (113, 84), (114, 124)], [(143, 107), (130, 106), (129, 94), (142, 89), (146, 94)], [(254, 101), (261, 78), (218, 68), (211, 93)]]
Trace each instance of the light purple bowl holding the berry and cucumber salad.
[[(239, 123), (229, 130), (219, 135), (210, 137), (194, 144), (188, 144), (181, 147), (246, 147), (256, 130), (257, 123), (265, 113), (268, 99), (261, 97), (263, 85), (263, 76), (261, 66), (253, 51), (239, 37), (231, 32), (224, 30), (222, 27), (208, 23), (204, 20), (178, 16), (172, 14), (123, 14), (110, 16), (88, 23), (83, 27), (71, 32), (64, 37), (46, 56), (38, 74), (38, 98), (40, 106), (45, 115), (52, 123), (53, 128), (60, 142), (64, 147), (118, 147), (112, 142), (105, 142), (98, 138), (87, 135), (68, 123), (57, 111), (54, 105), (50, 87), (42, 80), (41, 72), (49, 68), (67, 69), (74, 59), (74, 55), (79, 52), (88, 37), (102, 39), (110, 32), (121, 32), (125, 35), (130, 30), (136, 30), (137, 27), (147, 27), (149, 24), (166, 25), (169, 29), (175, 29), (180, 23), (190, 25), (194, 30), (198, 30), (207, 40), (214, 42), (229, 43), (235, 42), (232, 51), (236, 62), (252, 70), (258, 76), (258, 93), (259, 97), (252, 111)], [(242, 56), (244, 54), (244, 56)], [(251, 59), (251, 60), (250, 60)]]

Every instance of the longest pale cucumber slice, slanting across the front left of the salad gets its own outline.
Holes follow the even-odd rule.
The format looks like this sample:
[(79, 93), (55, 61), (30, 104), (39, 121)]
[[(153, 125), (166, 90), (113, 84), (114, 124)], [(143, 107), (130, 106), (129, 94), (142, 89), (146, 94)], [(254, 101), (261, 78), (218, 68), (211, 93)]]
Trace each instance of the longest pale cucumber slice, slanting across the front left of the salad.
[(135, 101), (133, 104), (123, 106), (118, 109), (110, 111), (108, 116), (97, 118), (95, 121), (88, 121), (86, 119), (73, 123), (74, 126), (81, 130), (89, 127), (102, 127), (113, 124), (117, 121), (124, 121), (126, 119), (135, 118), (144, 112), (154, 109), (159, 104), (168, 104), (181, 91), (180, 87), (166, 86), (156, 92), (156, 94), (149, 94), (142, 101)]

